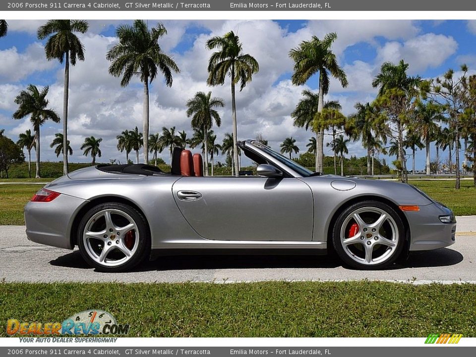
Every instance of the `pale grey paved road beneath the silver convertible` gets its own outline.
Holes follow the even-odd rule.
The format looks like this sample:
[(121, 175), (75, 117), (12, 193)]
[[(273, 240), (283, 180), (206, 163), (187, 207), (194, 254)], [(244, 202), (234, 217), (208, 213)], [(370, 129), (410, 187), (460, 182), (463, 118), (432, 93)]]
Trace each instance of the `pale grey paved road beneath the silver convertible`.
[(24, 226), (0, 227), (0, 279), (17, 282), (236, 282), (265, 280), (386, 280), (428, 283), (476, 283), (476, 216), (458, 217), (456, 243), (414, 253), (383, 271), (343, 267), (327, 256), (171, 256), (132, 272), (100, 273), (77, 249), (30, 242)]

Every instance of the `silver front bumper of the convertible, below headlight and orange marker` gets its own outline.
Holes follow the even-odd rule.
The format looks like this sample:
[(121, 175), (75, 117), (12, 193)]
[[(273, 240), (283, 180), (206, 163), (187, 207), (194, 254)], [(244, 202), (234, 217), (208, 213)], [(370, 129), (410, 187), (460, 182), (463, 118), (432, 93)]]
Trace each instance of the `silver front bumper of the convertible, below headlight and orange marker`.
[(452, 213), (437, 203), (420, 206), (418, 212), (406, 212), (410, 224), (410, 250), (431, 250), (454, 244), (456, 223), (442, 223), (438, 218)]

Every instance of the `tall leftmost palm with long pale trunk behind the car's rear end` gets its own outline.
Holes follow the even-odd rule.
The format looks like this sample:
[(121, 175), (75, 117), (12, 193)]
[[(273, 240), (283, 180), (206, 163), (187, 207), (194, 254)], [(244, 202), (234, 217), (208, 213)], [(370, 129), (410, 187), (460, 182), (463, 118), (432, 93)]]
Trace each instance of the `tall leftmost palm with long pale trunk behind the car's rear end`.
[[(48, 60), (64, 61), (63, 87), (63, 148), (67, 147), (68, 133), (68, 94), (69, 64), (76, 65), (76, 60), (84, 60), (84, 46), (75, 32), (85, 33), (89, 24), (85, 20), (49, 20), (38, 28), (38, 38), (48, 38), (45, 54)], [(68, 173), (68, 152), (63, 150), (63, 175)]]

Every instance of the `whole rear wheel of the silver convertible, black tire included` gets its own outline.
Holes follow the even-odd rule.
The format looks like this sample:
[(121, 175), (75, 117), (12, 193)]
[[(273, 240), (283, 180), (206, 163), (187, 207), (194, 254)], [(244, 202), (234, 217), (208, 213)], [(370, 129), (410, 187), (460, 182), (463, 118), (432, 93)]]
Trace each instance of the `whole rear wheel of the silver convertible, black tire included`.
[(77, 241), (86, 262), (106, 272), (131, 269), (150, 252), (145, 218), (122, 203), (103, 203), (90, 209), (79, 223)]

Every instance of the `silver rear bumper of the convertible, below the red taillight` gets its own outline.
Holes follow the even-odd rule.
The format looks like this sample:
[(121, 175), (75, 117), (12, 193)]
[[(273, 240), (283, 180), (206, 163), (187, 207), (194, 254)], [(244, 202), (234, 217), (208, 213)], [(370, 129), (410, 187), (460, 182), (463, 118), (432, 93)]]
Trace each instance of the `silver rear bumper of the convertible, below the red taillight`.
[(26, 236), (36, 243), (73, 249), (71, 224), (75, 213), (86, 202), (65, 194), (51, 202), (28, 202), (24, 208)]

